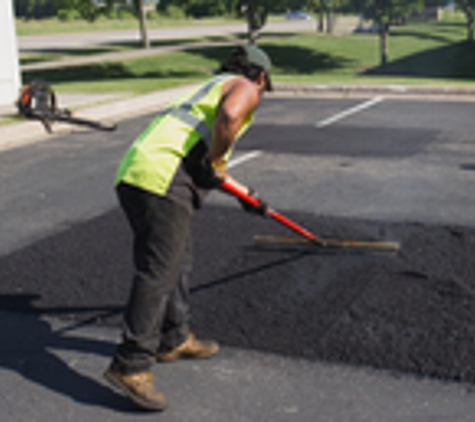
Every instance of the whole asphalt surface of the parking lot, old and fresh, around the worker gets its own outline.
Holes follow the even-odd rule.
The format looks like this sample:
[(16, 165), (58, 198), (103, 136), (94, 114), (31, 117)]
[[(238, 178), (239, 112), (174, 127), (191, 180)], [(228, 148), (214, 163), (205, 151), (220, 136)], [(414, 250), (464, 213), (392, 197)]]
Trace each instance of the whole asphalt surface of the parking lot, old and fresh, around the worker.
[(259, 247), (290, 233), (213, 193), (193, 221), (193, 327), (224, 349), (154, 369), (159, 416), (101, 380), (131, 278), (113, 174), (151, 116), (2, 152), (7, 420), (472, 420), (475, 103), (386, 99), (316, 127), (362, 102), (264, 101), (236, 150), (260, 155), (231, 173), (321, 236), (400, 254)]

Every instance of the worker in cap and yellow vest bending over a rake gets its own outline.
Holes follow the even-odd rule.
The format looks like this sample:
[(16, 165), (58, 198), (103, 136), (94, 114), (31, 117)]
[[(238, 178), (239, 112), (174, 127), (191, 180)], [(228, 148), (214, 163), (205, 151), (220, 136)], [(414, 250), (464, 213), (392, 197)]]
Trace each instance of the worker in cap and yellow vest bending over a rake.
[[(106, 380), (140, 407), (167, 406), (151, 367), (156, 361), (203, 359), (219, 346), (190, 332), (190, 218), (223, 181), (252, 190), (226, 172), (237, 138), (249, 127), (265, 91), (271, 61), (259, 47), (232, 51), (218, 74), (160, 113), (133, 142), (116, 175), (121, 208), (132, 228), (134, 278), (122, 340)], [(262, 213), (265, 203), (246, 207)]]

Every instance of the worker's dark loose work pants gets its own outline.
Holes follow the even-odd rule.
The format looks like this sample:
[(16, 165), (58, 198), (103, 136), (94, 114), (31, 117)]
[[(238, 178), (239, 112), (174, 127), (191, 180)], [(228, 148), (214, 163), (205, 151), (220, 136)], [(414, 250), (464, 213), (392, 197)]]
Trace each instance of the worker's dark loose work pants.
[(180, 204), (127, 184), (117, 187), (134, 234), (135, 275), (113, 369), (147, 371), (159, 350), (189, 334), (190, 213)]

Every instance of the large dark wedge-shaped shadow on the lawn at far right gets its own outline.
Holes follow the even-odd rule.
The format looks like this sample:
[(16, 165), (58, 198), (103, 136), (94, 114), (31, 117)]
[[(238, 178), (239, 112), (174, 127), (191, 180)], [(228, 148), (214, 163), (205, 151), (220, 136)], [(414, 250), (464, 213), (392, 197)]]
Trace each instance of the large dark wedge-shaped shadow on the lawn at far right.
[(366, 70), (362, 75), (475, 80), (475, 44), (459, 42)]

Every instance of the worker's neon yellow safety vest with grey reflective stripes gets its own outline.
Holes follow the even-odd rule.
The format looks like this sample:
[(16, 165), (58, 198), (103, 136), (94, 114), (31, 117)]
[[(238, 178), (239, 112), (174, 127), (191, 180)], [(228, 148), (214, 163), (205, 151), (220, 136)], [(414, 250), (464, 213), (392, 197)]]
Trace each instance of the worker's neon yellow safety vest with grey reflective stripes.
[[(210, 147), (222, 88), (233, 77), (236, 76), (216, 76), (160, 113), (127, 150), (115, 184), (125, 182), (166, 195), (182, 159), (200, 141)], [(249, 127), (253, 117), (251, 113), (238, 137)]]

